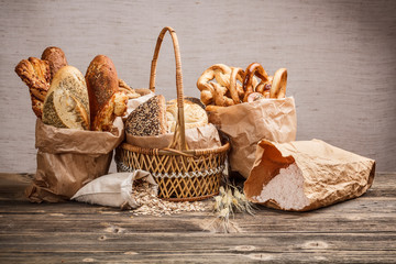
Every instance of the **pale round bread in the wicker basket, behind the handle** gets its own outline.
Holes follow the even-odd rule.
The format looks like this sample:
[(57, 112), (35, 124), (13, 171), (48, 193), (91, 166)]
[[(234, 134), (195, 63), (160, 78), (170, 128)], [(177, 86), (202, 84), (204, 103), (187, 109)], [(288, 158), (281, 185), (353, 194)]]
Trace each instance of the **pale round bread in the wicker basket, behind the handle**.
[[(191, 102), (188, 99), (184, 100), (185, 129), (193, 129), (208, 124), (208, 116), (202, 107)], [(176, 100), (167, 102), (166, 119), (168, 132), (175, 132), (177, 121), (177, 103)]]

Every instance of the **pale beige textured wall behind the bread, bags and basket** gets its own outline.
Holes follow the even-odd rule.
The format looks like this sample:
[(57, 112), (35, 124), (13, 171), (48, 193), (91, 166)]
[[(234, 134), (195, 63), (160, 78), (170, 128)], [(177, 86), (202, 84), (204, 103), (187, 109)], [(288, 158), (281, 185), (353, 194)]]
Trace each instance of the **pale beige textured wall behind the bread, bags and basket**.
[[(119, 76), (146, 87), (161, 29), (173, 26), (182, 50), (185, 94), (215, 63), (270, 74), (289, 72), (298, 140), (321, 139), (396, 169), (395, 1), (6, 1), (0, 16), (0, 168), (35, 170), (34, 124), (28, 88), (14, 74), (22, 58), (62, 47), (85, 74), (97, 54)], [(161, 51), (158, 92), (175, 97), (169, 37)]]

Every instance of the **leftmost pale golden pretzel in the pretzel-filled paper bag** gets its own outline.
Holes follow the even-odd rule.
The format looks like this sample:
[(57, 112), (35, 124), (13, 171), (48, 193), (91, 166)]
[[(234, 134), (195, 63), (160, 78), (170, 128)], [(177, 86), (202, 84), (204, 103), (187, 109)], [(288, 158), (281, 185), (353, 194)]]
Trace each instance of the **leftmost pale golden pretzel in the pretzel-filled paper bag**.
[(231, 74), (230, 67), (228, 67), (224, 64), (215, 64), (202, 73), (202, 75), (197, 80), (197, 87), (201, 91), (201, 96), (200, 96), (201, 101), (206, 106), (210, 105), (216, 100), (215, 94), (221, 95), (223, 91), (223, 89), (219, 89), (218, 91), (215, 91), (215, 86), (211, 85), (211, 82), (209, 81), (216, 79), (218, 85), (222, 87), (228, 87), (230, 86), (230, 74)]

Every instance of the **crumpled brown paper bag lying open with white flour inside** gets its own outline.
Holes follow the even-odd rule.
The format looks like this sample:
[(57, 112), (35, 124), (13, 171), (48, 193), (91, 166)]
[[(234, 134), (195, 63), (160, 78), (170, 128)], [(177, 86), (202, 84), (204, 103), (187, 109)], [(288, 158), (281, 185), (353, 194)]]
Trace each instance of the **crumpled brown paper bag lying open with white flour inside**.
[(323, 141), (261, 141), (244, 193), (267, 207), (308, 211), (363, 195), (375, 161)]

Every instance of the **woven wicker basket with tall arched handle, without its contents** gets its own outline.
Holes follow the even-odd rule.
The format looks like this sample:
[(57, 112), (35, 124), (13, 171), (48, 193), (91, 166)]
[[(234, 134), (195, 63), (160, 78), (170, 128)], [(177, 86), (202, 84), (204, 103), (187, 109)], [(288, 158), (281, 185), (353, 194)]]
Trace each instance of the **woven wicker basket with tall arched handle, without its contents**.
[(157, 38), (151, 67), (150, 89), (155, 91), (158, 52), (166, 32), (173, 41), (176, 61), (178, 118), (173, 141), (166, 148), (143, 148), (128, 143), (116, 151), (118, 172), (144, 169), (158, 184), (158, 197), (172, 201), (202, 200), (218, 195), (230, 144), (208, 150), (188, 150), (185, 139), (183, 77), (176, 32), (164, 28)]

